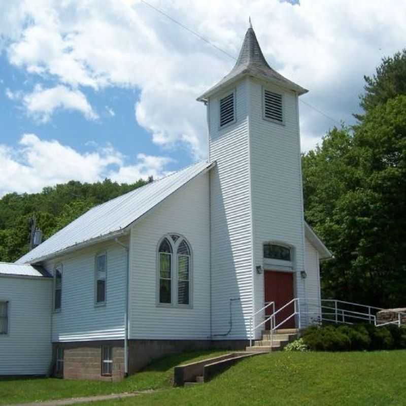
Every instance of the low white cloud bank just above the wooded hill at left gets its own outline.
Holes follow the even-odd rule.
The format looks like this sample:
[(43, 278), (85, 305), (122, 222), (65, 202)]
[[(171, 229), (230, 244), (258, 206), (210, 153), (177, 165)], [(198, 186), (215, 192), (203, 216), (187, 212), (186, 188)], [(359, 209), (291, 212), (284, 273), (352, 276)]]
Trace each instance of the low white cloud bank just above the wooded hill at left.
[(171, 158), (139, 154), (135, 164), (112, 146), (79, 153), (58, 141), (41, 140), (35, 134), (23, 134), (16, 148), (0, 144), (2, 182), (0, 196), (8, 192), (38, 192), (70, 180), (96, 182), (110, 178), (132, 183), (149, 176), (166, 175)]

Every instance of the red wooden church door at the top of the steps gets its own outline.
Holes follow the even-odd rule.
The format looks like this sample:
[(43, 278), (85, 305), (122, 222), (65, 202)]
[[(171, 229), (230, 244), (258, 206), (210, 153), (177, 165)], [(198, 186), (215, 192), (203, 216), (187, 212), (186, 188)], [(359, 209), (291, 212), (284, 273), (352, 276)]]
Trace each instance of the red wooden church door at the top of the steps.
[[(293, 274), (290, 272), (276, 272), (266, 270), (264, 272), (265, 301), (274, 301), (275, 310), (285, 306), (293, 299)], [(294, 312), (294, 303), (289, 304), (275, 317), (275, 325), (278, 325)], [(272, 314), (272, 306), (266, 309), (266, 314)], [(266, 323), (266, 329), (270, 328), (270, 322)], [(295, 328), (295, 318), (291, 317), (279, 328)]]

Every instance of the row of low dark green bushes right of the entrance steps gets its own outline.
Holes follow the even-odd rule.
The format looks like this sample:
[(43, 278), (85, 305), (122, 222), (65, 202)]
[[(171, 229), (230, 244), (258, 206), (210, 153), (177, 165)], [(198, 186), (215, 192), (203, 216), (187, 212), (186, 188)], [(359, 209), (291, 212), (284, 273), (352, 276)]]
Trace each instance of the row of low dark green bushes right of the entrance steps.
[(375, 351), (406, 349), (406, 326), (373, 324), (311, 326), (285, 351)]

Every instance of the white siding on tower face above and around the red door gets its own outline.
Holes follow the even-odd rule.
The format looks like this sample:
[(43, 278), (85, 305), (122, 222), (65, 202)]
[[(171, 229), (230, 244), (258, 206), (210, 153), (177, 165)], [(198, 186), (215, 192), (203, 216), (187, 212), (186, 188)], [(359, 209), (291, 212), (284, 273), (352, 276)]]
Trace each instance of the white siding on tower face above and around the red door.
[[(283, 92), (284, 124), (263, 120), (263, 86), (250, 79), (250, 150), (254, 258), (263, 265), (263, 244), (274, 241), (293, 247), (294, 295), (304, 296), (304, 220), (300, 169), (297, 96)], [(255, 274), (255, 309), (264, 306), (263, 274)], [(261, 320), (258, 315), (257, 322)], [(260, 331), (257, 331), (257, 336)]]

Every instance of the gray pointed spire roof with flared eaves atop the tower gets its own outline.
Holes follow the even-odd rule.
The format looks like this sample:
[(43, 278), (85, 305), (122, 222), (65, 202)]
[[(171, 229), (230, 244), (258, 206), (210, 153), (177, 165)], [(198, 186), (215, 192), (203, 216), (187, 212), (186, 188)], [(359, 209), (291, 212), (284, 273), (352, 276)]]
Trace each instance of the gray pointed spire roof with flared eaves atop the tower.
[(298, 92), (299, 95), (308, 92), (308, 90), (302, 88), (289, 79), (286, 79), (284, 76), (279, 74), (268, 65), (258, 44), (254, 29), (252, 28), (251, 18), (250, 27), (248, 28), (245, 35), (240, 55), (235, 62), (235, 65), (232, 68), (231, 72), (226, 75), (219, 83), (217, 83), (215, 86), (198, 97), (197, 100), (205, 101), (213, 93), (221, 90), (221, 88), (247, 75), (254, 76), (267, 82), (272, 82), (288, 90), (294, 90)]

